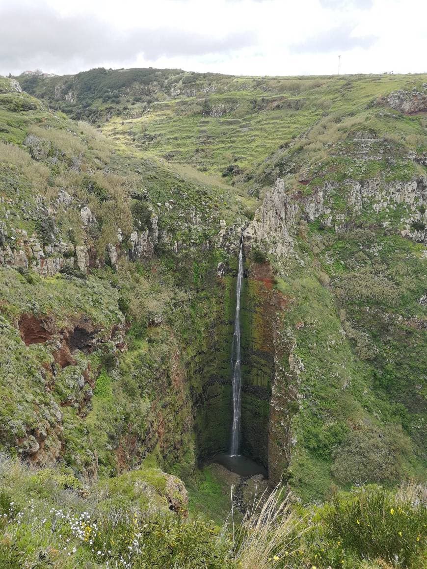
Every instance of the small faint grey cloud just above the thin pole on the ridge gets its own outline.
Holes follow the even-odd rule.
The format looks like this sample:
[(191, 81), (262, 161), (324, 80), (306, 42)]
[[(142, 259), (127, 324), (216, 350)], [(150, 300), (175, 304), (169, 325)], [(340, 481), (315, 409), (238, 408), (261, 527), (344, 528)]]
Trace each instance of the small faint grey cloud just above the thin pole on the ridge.
[(292, 53), (329, 53), (352, 50), (355, 47), (367, 49), (371, 47), (378, 38), (376, 36), (362, 36), (354, 38), (351, 36), (352, 26), (343, 24), (321, 34), (307, 38), (301, 43), (290, 46)]

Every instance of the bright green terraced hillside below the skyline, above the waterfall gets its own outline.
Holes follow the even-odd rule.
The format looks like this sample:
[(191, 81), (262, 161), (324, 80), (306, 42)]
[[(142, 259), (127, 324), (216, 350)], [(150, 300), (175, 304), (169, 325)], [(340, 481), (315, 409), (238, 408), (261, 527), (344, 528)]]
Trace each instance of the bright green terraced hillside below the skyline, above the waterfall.
[[(265, 170), (262, 165), (265, 158), (280, 147), (286, 148), (317, 123), (322, 124), (324, 117), (336, 119), (358, 115), (363, 127), (371, 127), (376, 120), (386, 133), (395, 132), (393, 119), (378, 120), (377, 114), (371, 119), (373, 113), (367, 111), (367, 106), (377, 97), (401, 88), (410, 89), (423, 81), (425, 76), (413, 79), (408, 76), (355, 76), (299, 81), (248, 79), (244, 81), (244, 89), (238, 89), (239, 82), (234, 81), (224, 93), (155, 102), (142, 118), (123, 117), (123, 125), (122, 118), (113, 118), (106, 125), (106, 131), (128, 134), (136, 146), (149, 154), (191, 163), (216, 174), (221, 174), (233, 163), (243, 172), (253, 174), (254, 170)], [(221, 105), (225, 109), (228, 105), (231, 110), (221, 117), (210, 116), (212, 109), (215, 111)], [(233, 107), (236, 108), (233, 110)], [(417, 119), (408, 118), (406, 122), (414, 124)], [(409, 126), (408, 131), (413, 134), (413, 127)], [(315, 162), (315, 152), (310, 151), (310, 159)]]

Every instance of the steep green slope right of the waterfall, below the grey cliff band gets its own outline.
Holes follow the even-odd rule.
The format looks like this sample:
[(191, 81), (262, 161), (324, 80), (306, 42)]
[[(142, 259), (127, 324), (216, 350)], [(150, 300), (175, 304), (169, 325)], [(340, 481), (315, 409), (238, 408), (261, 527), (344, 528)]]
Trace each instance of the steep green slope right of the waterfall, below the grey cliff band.
[[(313, 234), (319, 236), (315, 229), (312, 239)], [(351, 242), (348, 237), (344, 242), (336, 238), (335, 251), (341, 245), (340, 253), (351, 259)], [(325, 496), (332, 483), (389, 484), (410, 476), (422, 480), (424, 333), (405, 321), (383, 320), (380, 315), (393, 314), (396, 308), (387, 302), (381, 306), (368, 286), (363, 302), (337, 299), (334, 284), (325, 286), (322, 271), (334, 278), (334, 267), (322, 266), (302, 245), (305, 267), (290, 262), (276, 285), (291, 299), (285, 323), (304, 365), (298, 387), (300, 409), (292, 423), (296, 446), (288, 471), (291, 486), (310, 500)], [(412, 249), (415, 262), (421, 246), (402, 238), (400, 246)], [(398, 262), (400, 251), (393, 253)], [(343, 277), (343, 270), (339, 275)], [(412, 281), (408, 293), (414, 302), (424, 278), (422, 271), (418, 283)], [(401, 290), (405, 284), (397, 286)], [(348, 323), (358, 335), (350, 336)], [(409, 359), (408, 344), (413, 354)]]

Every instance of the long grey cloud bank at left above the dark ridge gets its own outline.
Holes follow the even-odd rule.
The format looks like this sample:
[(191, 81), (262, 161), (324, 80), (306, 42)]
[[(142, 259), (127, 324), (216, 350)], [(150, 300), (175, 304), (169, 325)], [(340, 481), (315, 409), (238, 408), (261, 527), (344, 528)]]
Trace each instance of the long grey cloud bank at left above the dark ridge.
[(46, 5), (0, 7), (0, 68), (63, 68), (79, 61), (98, 65), (121, 63), (143, 54), (161, 56), (223, 53), (251, 46), (254, 32), (236, 32), (213, 38), (197, 32), (160, 27), (120, 32), (96, 17), (61, 17)]

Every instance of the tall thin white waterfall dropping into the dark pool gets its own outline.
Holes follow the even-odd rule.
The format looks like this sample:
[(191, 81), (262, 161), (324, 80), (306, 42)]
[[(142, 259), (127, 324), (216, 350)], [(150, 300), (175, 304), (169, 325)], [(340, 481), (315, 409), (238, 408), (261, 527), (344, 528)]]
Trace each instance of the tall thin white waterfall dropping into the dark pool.
[(236, 286), (236, 314), (234, 320), (233, 345), (231, 351), (231, 369), (233, 370), (233, 424), (231, 428), (231, 456), (239, 454), (240, 443), (240, 292), (243, 279), (243, 237), (240, 242), (239, 273)]

